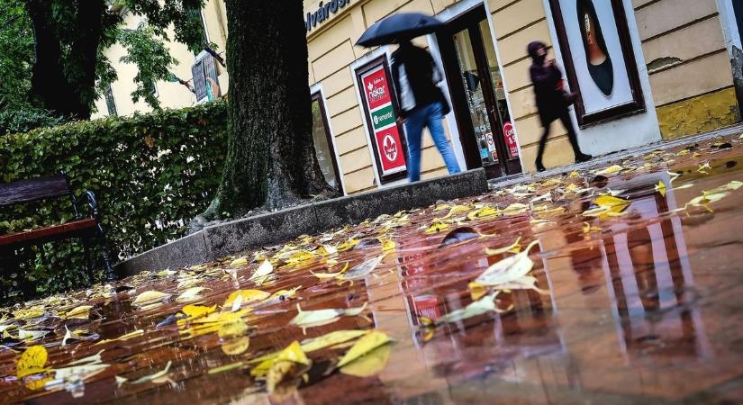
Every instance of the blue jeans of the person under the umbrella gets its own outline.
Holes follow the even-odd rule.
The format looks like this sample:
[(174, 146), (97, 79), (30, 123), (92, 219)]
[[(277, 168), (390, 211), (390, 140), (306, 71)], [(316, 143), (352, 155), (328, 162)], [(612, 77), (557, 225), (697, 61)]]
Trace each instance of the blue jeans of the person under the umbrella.
[(412, 182), (421, 180), (421, 135), (423, 127), (428, 126), (430, 136), (441, 157), (449, 169), (449, 174), (459, 173), (459, 165), (454, 151), (449, 146), (444, 127), (441, 125), (441, 103), (430, 103), (412, 111), (405, 119), (405, 137), (408, 141), (408, 179)]

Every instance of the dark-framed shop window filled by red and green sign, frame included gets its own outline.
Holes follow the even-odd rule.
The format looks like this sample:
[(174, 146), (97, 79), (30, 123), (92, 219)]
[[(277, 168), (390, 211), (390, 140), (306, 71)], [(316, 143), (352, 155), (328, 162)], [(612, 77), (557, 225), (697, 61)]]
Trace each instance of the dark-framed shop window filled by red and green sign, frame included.
[(358, 67), (356, 83), (381, 184), (406, 177), (407, 146), (386, 56)]

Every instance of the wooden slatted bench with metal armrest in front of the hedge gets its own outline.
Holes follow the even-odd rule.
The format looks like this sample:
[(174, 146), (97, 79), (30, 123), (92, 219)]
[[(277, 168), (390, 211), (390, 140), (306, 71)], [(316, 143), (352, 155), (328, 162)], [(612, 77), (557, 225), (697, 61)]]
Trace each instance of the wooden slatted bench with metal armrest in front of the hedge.
[(0, 208), (50, 198), (68, 197), (75, 212), (75, 220), (63, 224), (0, 235), (0, 257), (13, 257), (15, 251), (22, 247), (31, 247), (69, 238), (80, 238), (85, 248), (87, 270), (88, 273), (91, 273), (88, 245), (89, 239), (95, 238), (103, 251), (106, 277), (113, 279), (113, 269), (105, 247), (105, 231), (101, 225), (98, 203), (95, 201), (94, 193), (88, 191), (84, 195), (87, 215), (82, 215), (78, 211), (77, 205), (81, 201), (70, 188), (68, 176), (64, 171), (60, 172), (59, 175), (49, 177), (0, 183)]

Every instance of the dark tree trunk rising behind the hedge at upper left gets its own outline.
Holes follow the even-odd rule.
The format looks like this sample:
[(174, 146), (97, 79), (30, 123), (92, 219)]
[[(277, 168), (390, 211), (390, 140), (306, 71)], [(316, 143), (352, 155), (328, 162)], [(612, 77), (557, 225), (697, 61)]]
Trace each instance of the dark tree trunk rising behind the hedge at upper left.
[[(80, 0), (74, 43), (62, 43), (53, 16), (52, 0), (27, 0), (31, 17), (35, 58), (31, 91), (44, 108), (69, 118), (90, 118), (90, 105), (95, 100), (95, 62), (103, 31), (104, 0)], [(69, 47), (69, 56), (62, 49)], [(67, 59), (67, 60), (65, 60)], [(65, 67), (67, 62), (67, 68)]]

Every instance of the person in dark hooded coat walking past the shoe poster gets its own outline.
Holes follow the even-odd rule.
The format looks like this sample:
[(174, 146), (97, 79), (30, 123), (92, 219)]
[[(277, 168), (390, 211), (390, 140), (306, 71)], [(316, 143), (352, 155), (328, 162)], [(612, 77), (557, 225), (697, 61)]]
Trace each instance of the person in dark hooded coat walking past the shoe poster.
[(562, 72), (557, 68), (555, 59), (547, 58), (547, 46), (542, 42), (535, 40), (529, 44), (527, 49), (533, 60), (529, 67), (529, 73), (531, 83), (534, 84), (539, 119), (542, 121), (542, 127), (544, 127), (537, 151), (537, 170), (540, 172), (545, 170), (542, 164), (542, 156), (549, 136), (549, 125), (555, 120), (562, 121), (567, 130), (567, 139), (570, 139), (570, 145), (573, 147), (575, 162), (591, 160), (592, 156), (581, 152), (578, 146), (573, 121), (570, 121), (570, 114), (567, 111), (568, 105), (573, 103), (574, 95), (568, 94), (563, 88)]

